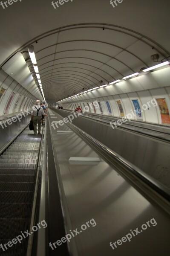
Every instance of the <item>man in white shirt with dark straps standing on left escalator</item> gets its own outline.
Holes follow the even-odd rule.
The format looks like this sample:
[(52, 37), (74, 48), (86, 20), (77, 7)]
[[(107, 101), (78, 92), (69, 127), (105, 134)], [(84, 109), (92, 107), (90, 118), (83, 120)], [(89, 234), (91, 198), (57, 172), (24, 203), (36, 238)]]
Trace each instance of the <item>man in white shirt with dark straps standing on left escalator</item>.
[(35, 105), (32, 107), (31, 119), (34, 126), (34, 134), (37, 134), (37, 123), (38, 123), (38, 134), (41, 131), (41, 119), (43, 116), (48, 116), (44, 113), (43, 108), (40, 106), (40, 100), (36, 100)]

